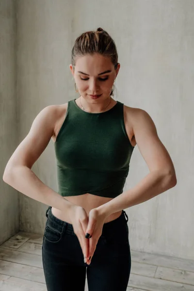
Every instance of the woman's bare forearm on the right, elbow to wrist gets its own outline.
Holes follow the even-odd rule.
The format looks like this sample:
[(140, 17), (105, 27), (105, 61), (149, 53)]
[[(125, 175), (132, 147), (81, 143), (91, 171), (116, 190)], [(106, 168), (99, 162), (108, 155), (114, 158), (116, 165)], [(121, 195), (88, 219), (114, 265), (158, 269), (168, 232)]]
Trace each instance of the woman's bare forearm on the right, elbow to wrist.
[(151, 172), (135, 187), (97, 207), (97, 209), (108, 217), (114, 212), (145, 202), (175, 185), (176, 178), (164, 175), (160, 171)]

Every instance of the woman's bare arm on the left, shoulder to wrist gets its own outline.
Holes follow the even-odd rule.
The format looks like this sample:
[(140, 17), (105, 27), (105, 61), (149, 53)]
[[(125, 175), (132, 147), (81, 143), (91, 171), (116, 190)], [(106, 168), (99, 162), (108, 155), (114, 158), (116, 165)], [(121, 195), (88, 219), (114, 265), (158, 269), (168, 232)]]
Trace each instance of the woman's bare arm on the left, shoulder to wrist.
[(34, 200), (67, 211), (75, 205), (46, 186), (31, 170), (34, 162), (49, 144), (54, 133), (56, 119), (55, 105), (44, 108), (36, 116), (28, 135), (8, 161), (3, 181)]

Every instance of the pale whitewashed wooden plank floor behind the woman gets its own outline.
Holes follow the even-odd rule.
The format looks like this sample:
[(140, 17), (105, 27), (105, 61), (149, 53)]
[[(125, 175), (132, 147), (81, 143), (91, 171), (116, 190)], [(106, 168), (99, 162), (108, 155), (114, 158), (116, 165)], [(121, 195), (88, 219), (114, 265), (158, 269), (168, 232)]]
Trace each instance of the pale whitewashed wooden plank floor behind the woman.
[[(47, 291), (42, 237), (19, 232), (0, 245), (0, 291)], [(131, 250), (128, 291), (194, 291), (194, 261)], [(87, 279), (86, 279), (86, 288)]]

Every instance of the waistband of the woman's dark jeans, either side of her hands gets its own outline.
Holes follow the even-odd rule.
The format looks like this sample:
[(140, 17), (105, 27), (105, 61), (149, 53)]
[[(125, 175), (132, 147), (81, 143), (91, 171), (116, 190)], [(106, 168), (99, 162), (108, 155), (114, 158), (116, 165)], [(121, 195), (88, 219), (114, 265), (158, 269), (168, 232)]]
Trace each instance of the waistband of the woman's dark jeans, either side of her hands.
[[(59, 218), (57, 218), (56, 216), (54, 216), (52, 214), (51, 211), (51, 206), (49, 206), (49, 208), (46, 211), (46, 216), (48, 217), (48, 220), (52, 221), (52, 224), (54, 224), (55, 226), (59, 226), (60, 228), (65, 228), (66, 230), (68, 230), (70, 233), (74, 233), (73, 231), (73, 225), (65, 222)], [(125, 210), (122, 210), (122, 213), (119, 217), (117, 217), (116, 219), (107, 222), (103, 225), (103, 230), (106, 231), (106, 229), (111, 229), (112, 227), (115, 227), (117, 225), (119, 225), (119, 223), (121, 223), (122, 221), (124, 221), (125, 223), (127, 223), (129, 220), (128, 215), (126, 213)]]

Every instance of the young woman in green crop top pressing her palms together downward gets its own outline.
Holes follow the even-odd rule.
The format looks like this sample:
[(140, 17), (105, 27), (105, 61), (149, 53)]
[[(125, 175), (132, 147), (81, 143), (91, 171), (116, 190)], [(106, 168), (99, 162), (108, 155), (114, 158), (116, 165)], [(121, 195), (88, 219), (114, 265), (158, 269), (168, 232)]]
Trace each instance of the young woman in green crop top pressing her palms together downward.
[[(80, 97), (36, 116), (3, 180), (50, 205), (42, 246), (48, 291), (84, 291), (86, 272), (89, 291), (126, 291), (131, 257), (123, 209), (174, 187), (175, 169), (149, 114), (112, 98), (120, 64), (111, 36), (101, 28), (82, 33), (71, 61)], [(58, 193), (31, 170), (50, 139)], [(123, 192), (136, 144), (150, 173)]]

